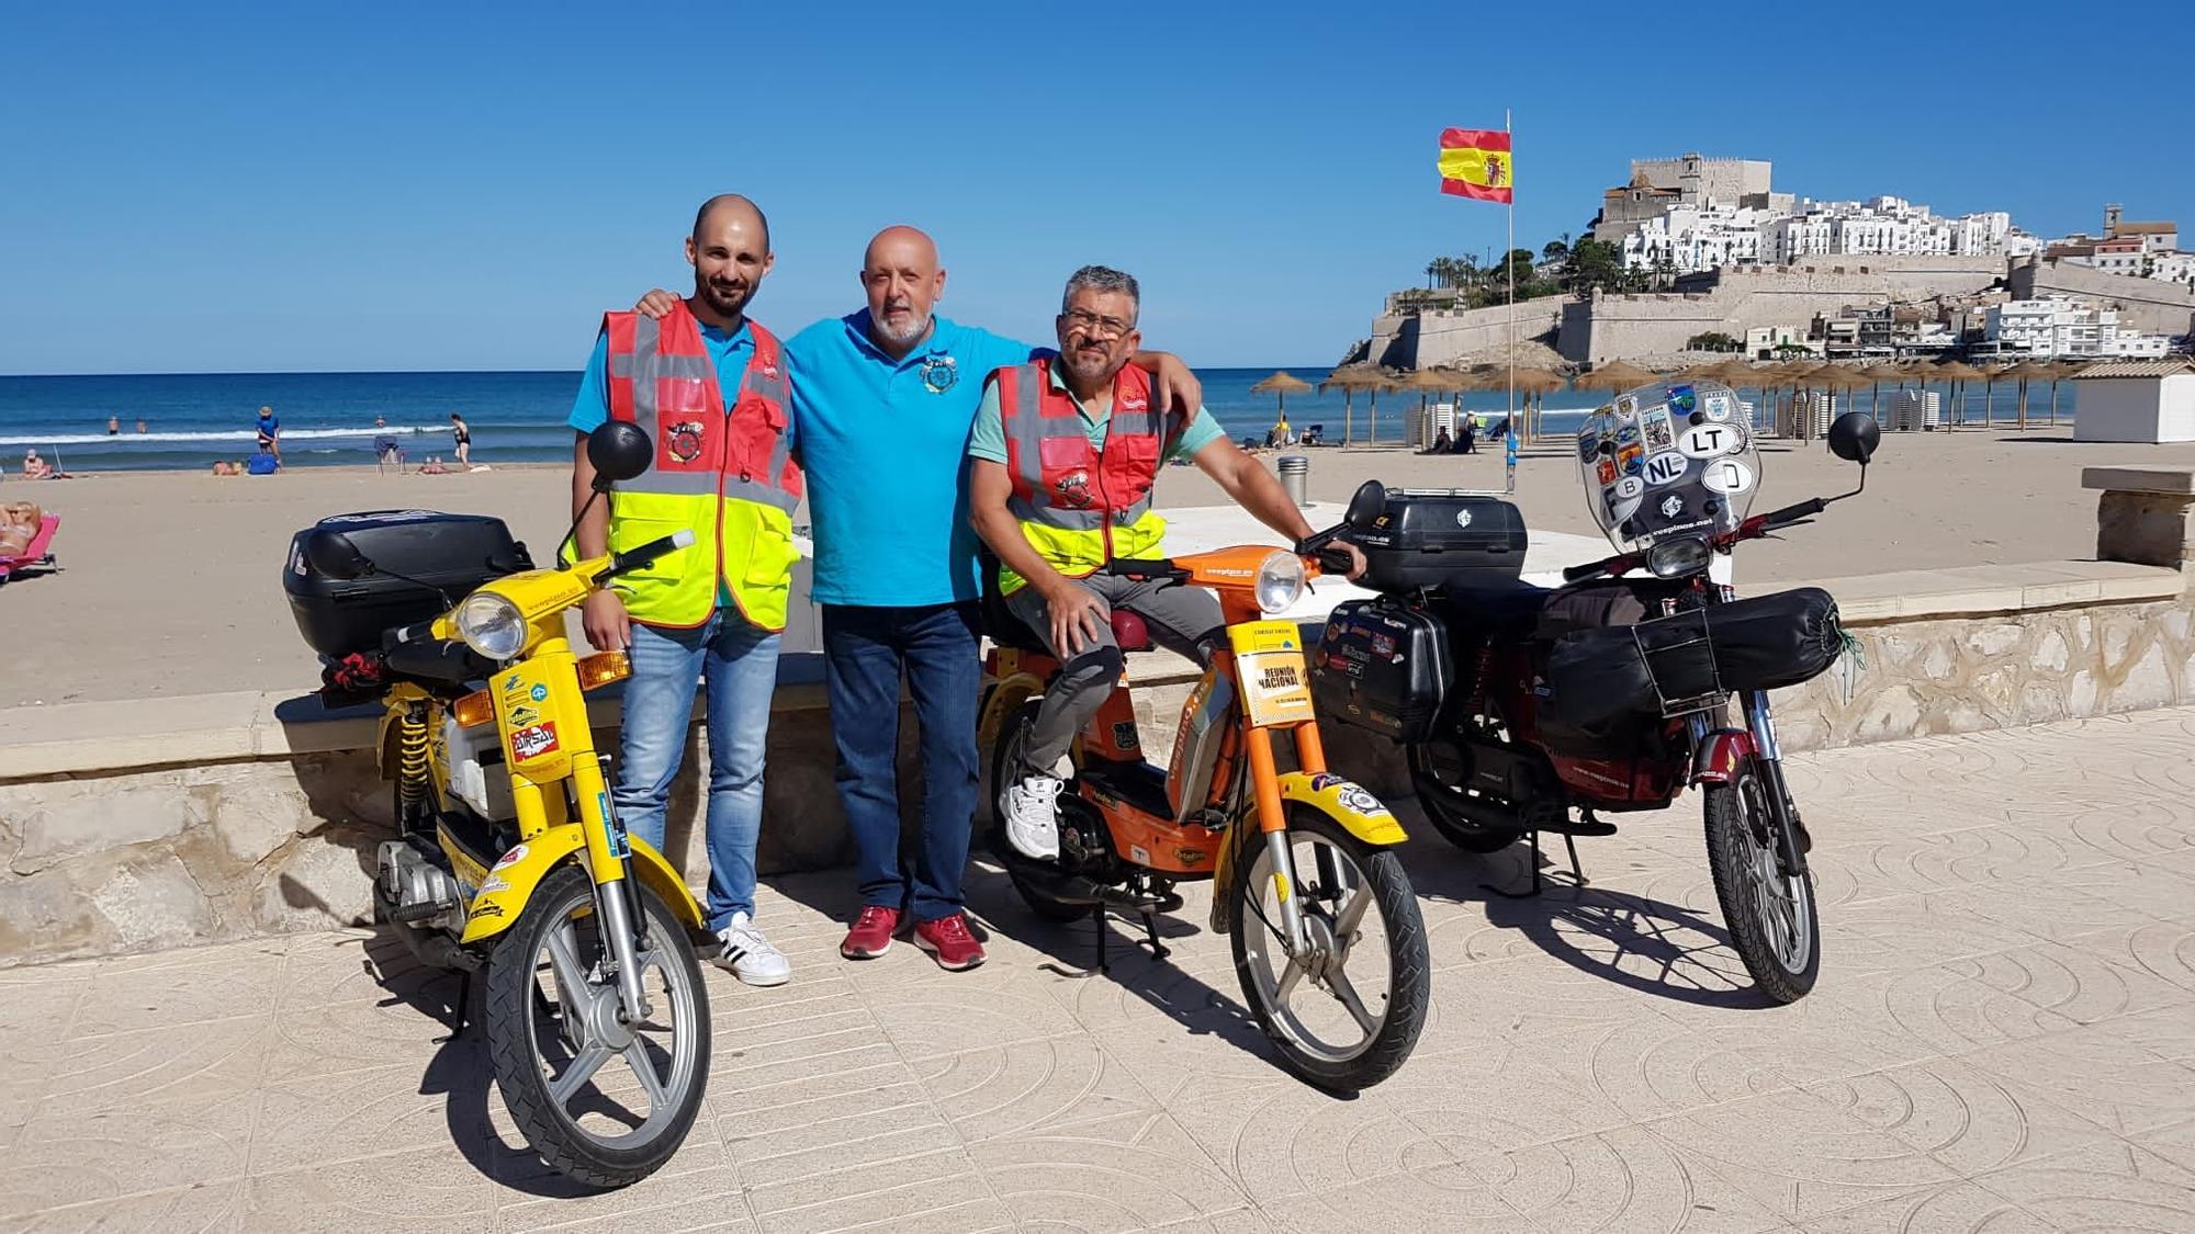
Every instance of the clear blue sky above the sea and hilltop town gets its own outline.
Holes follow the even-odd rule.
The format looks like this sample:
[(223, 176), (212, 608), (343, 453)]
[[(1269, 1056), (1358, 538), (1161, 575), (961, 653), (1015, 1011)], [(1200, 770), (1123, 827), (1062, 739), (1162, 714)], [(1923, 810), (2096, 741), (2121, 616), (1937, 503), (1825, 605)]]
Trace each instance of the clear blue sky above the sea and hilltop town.
[[(1242, 18), (1238, 13), (1253, 13)], [(2188, 9), (1637, 4), (9, 4), (0, 373), (577, 369), (757, 198), (790, 332), (891, 222), (944, 312), (1049, 336), (1082, 261), (1194, 364), (1326, 364), (1501, 209), (1442, 125), (1517, 125), (1517, 239), (1633, 156), (1769, 158), (1813, 198), (2195, 228)], [(1631, 35), (1626, 31), (1637, 31)], [(2169, 59), (2169, 57), (2166, 57)]]

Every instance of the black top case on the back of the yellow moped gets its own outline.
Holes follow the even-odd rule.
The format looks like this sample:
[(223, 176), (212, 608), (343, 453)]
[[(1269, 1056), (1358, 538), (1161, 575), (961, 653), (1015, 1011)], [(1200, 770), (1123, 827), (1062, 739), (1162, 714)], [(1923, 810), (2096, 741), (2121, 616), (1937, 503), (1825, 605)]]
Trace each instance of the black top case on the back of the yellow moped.
[(290, 615), (312, 650), (336, 659), (375, 652), (384, 630), (439, 617), (483, 582), (533, 569), (527, 547), (485, 514), (371, 509), (318, 527), (342, 531), (375, 564), (364, 577), (327, 577), (305, 560), (314, 527), (290, 538), (281, 573)]

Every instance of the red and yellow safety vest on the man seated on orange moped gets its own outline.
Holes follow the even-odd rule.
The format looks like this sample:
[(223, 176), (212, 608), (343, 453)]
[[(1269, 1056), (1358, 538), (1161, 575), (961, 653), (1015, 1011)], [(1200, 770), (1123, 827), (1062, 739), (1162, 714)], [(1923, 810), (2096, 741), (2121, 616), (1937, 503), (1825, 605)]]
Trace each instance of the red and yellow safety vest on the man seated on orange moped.
[[(1067, 577), (1113, 558), (1155, 556), (1166, 518), (1150, 507), (1150, 485), (1183, 419), (1161, 415), (1150, 373), (1128, 364), (1113, 378), (1113, 422), (1104, 450), (1095, 450), (1076, 400), (1051, 384), (1051, 364), (1032, 360), (992, 373), (1014, 481), (1005, 507), (1036, 553)], [(999, 569), (1001, 591), (1021, 591), (1023, 582)]]

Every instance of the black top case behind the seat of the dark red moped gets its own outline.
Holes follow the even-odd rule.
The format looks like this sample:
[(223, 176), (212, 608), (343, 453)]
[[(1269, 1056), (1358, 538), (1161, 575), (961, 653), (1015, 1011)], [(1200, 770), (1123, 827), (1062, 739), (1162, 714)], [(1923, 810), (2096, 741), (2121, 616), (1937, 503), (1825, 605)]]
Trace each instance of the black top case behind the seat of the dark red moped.
[(1523, 573), (1523, 514), (1499, 496), (1387, 490), (1372, 527), (1350, 529), (1365, 553), (1361, 586), (1416, 591), (1451, 582), (1504, 582)]

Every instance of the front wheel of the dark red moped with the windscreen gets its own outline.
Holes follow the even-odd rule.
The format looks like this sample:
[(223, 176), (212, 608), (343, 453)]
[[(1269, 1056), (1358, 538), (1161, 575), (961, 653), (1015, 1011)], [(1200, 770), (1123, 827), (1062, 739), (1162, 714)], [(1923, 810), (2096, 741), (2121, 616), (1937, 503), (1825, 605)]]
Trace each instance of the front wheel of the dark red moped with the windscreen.
[(1730, 784), (1708, 786), (1708, 867), (1730, 942), (1754, 986), (1791, 1003), (1806, 997), (1822, 971), (1822, 922), (1813, 876), (1778, 870), (1767, 793), (1749, 762)]

